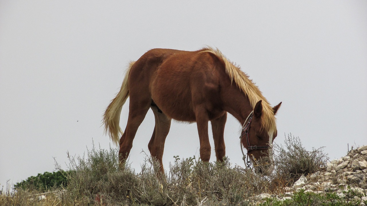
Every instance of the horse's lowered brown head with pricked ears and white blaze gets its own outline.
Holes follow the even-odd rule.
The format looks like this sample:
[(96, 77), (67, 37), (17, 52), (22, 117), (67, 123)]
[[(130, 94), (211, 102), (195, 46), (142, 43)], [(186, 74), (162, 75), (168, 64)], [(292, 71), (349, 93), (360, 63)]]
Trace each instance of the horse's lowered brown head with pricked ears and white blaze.
[[(272, 143), (277, 136), (277, 130), (275, 125), (266, 130), (262, 125), (263, 107), (262, 101), (256, 103), (254, 110), (247, 117), (247, 120), (243, 124), (241, 133), (241, 143), (247, 149), (248, 161), (254, 164), (256, 172), (270, 174), (274, 165)], [(280, 107), (281, 102), (272, 108), (275, 115)]]

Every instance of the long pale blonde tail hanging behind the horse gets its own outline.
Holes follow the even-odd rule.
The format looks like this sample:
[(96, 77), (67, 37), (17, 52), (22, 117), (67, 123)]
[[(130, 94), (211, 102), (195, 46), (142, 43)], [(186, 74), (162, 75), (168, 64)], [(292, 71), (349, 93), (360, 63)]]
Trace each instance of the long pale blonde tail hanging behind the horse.
[(129, 97), (129, 74), (132, 65), (135, 62), (130, 62), (124, 81), (122, 82), (121, 89), (117, 93), (115, 99), (106, 108), (105, 114), (103, 115), (103, 124), (105, 125), (105, 133), (110, 136), (110, 139), (116, 145), (119, 145), (120, 136), (124, 133), (120, 128), (120, 114), (121, 109), (127, 98)]

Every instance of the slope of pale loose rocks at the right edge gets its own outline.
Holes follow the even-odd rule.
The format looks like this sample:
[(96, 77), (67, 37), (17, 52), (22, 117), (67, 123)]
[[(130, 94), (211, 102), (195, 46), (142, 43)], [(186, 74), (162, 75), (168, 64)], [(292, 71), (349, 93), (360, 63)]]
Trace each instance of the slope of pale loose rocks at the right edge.
[(261, 194), (257, 198), (267, 197), (279, 200), (291, 199), (294, 192), (305, 190), (317, 194), (325, 192), (336, 192), (339, 196), (345, 196), (348, 190), (359, 193), (362, 197), (354, 196), (361, 201), (361, 206), (367, 202), (367, 146), (351, 150), (348, 155), (340, 159), (327, 162), (327, 168), (319, 172), (301, 176), (292, 187), (286, 187), (285, 193), (280, 195)]

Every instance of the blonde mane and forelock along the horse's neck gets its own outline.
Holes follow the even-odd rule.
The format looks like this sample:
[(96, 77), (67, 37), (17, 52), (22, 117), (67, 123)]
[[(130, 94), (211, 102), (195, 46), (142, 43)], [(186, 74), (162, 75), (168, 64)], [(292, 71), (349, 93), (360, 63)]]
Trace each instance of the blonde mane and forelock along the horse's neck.
[(275, 132), (276, 119), (274, 116), (273, 108), (270, 106), (268, 100), (266, 100), (265, 97), (262, 96), (261, 91), (255, 85), (255, 83), (248, 78), (247, 74), (241, 71), (240, 67), (235, 66), (232, 62), (230, 62), (218, 49), (206, 47), (203, 48), (201, 52), (210, 52), (224, 61), (226, 73), (228, 74), (231, 81), (234, 81), (237, 87), (239, 87), (241, 91), (246, 94), (252, 108), (255, 107), (255, 104), (259, 100), (262, 100), (262, 127), (268, 132)]

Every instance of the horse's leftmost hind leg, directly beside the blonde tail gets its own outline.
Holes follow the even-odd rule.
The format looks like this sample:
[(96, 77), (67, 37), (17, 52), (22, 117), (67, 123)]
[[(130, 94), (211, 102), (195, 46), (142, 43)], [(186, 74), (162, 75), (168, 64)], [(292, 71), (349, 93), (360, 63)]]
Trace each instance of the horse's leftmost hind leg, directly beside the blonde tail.
[(123, 164), (129, 156), (132, 141), (149, 110), (151, 101), (150, 96), (147, 95), (130, 96), (129, 117), (127, 119), (125, 132), (120, 139), (120, 164)]

